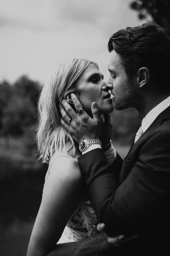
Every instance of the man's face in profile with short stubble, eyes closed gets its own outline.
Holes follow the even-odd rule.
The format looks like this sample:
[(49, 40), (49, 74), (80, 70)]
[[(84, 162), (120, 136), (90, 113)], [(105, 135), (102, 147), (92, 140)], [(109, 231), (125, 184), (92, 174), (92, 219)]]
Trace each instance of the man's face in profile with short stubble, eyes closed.
[(115, 97), (115, 108), (118, 110), (134, 107), (136, 101), (135, 76), (130, 80), (127, 76), (122, 61), (118, 54), (113, 50), (110, 53), (108, 64), (110, 77), (108, 83), (113, 84), (111, 94)]

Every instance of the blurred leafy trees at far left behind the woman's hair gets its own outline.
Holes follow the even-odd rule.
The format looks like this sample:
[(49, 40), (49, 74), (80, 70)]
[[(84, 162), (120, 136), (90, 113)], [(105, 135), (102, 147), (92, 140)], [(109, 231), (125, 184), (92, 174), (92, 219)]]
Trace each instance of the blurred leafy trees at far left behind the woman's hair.
[(37, 121), (36, 106), (40, 85), (27, 76), (20, 77), (14, 85), (0, 85), (1, 132), (3, 135), (29, 133)]

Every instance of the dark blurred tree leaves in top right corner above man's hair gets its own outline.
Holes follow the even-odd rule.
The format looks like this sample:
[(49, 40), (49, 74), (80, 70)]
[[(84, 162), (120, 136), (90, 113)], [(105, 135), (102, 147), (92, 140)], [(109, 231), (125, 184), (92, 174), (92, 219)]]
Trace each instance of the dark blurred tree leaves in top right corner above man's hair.
[(138, 12), (139, 19), (151, 16), (158, 25), (170, 30), (169, 0), (135, 0), (130, 3), (130, 6)]

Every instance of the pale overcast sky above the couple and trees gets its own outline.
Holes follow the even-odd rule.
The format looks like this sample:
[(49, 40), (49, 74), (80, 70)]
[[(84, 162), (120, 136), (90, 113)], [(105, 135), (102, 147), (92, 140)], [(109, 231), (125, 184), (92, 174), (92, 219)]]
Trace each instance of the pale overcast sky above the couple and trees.
[(19, 76), (44, 82), (62, 61), (96, 61), (107, 80), (109, 37), (138, 26), (130, 0), (1, 0), (0, 81)]

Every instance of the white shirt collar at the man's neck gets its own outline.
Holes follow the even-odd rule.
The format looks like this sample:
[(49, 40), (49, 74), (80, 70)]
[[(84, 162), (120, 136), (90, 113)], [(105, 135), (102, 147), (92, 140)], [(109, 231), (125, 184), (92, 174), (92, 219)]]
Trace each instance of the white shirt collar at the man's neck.
[(160, 113), (162, 113), (167, 107), (170, 106), (170, 96), (166, 99), (164, 99), (162, 102), (160, 102), (156, 107), (154, 107), (149, 113), (146, 115), (146, 117), (142, 120), (142, 130), (145, 132), (149, 126), (154, 122), (156, 117)]

